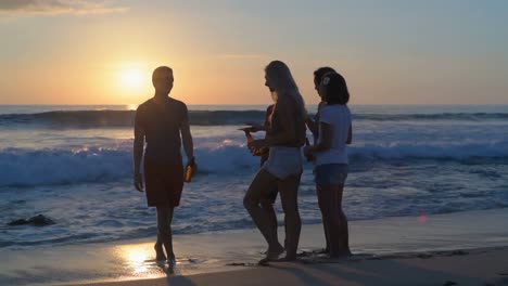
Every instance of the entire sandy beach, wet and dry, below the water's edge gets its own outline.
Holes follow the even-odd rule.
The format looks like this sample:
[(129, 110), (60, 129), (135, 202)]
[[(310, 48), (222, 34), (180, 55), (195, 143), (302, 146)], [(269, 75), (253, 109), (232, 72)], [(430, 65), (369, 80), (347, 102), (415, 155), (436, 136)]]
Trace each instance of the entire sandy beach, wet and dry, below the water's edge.
[(0, 285), (504, 285), (506, 218), (508, 209), (352, 221), (355, 256), (339, 261), (314, 253), (321, 225), (303, 225), (300, 262), (269, 266), (256, 265), (266, 245), (255, 230), (176, 235), (176, 271), (153, 260), (151, 239), (8, 248)]

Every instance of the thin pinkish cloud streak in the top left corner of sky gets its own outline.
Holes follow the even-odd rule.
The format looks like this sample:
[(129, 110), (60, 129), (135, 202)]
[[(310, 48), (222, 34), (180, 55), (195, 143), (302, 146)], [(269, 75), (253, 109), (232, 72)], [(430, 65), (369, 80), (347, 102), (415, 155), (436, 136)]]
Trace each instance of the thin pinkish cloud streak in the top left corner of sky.
[(0, 0), (0, 13), (28, 15), (105, 14), (126, 11), (98, 0)]

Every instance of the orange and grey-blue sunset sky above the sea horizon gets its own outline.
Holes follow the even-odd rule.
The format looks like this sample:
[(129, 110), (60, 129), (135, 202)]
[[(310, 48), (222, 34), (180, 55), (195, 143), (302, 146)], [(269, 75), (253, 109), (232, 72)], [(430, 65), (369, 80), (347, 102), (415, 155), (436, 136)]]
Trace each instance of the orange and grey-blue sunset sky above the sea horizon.
[(131, 104), (153, 68), (188, 104), (265, 104), (285, 62), (309, 104), (329, 65), (353, 104), (508, 104), (508, 1), (1, 0), (0, 104)]

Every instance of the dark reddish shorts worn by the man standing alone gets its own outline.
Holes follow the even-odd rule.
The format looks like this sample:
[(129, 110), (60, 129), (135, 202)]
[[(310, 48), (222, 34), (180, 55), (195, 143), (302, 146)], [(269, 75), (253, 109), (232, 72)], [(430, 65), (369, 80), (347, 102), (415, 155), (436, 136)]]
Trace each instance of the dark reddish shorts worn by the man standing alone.
[(144, 186), (149, 207), (180, 205), (183, 166), (144, 161)]

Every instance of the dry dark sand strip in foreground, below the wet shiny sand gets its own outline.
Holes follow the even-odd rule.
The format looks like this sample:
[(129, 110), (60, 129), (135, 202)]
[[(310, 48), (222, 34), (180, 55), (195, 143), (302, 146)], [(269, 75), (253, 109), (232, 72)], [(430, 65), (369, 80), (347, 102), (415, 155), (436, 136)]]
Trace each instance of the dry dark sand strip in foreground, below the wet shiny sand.
[(351, 261), (272, 263), (243, 271), (169, 275), (93, 286), (191, 285), (508, 285), (508, 248)]

